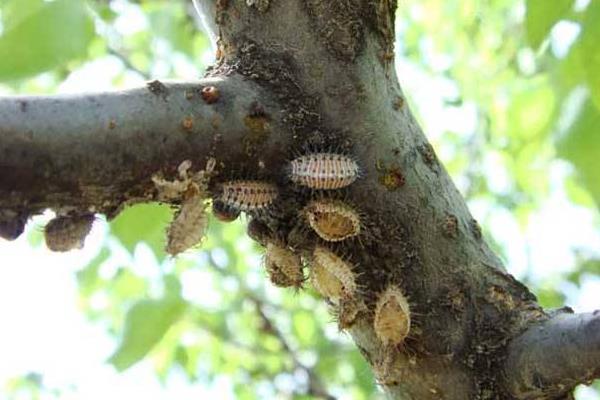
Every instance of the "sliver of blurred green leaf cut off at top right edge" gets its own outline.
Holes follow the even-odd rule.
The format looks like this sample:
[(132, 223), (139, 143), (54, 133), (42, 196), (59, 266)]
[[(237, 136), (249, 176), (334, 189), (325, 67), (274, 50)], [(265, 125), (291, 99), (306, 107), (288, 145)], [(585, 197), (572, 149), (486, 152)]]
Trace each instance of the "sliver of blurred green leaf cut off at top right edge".
[(600, 109), (600, 2), (592, 1), (585, 11), (580, 39), (581, 64), (592, 94), (592, 100)]

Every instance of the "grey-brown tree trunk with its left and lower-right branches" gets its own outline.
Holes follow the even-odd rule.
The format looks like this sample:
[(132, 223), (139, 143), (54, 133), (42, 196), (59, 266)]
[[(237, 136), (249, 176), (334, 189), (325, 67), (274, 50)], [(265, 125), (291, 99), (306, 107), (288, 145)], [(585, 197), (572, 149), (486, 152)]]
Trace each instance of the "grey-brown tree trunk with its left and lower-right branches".
[[(598, 376), (597, 318), (551, 318), (505, 272), (415, 122), (392, 62), (395, 1), (205, 5), (219, 37), (207, 78), (221, 90), (217, 103), (185, 95), (206, 81), (0, 101), (5, 226), (44, 207), (114, 215), (156, 197), (156, 171), (214, 157), (222, 173), (213, 185), (237, 174), (279, 186), (274, 210), (255, 225), (265, 240), (309, 255), (319, 239), (299, 210), (319, 194), (283, 171), (293, 154), (343, 152), (363, 176), (335, 197), (361, 210), (363, 233), (328, 246), (354, 266), (366, 308), (348, 330), (392, 398), (558, 399)], [(197, 131), (182, 130), (189, 116)], [(383, 345), (373, 330), (377, 298), (392, 284), (413, 320), (401, 346)]]

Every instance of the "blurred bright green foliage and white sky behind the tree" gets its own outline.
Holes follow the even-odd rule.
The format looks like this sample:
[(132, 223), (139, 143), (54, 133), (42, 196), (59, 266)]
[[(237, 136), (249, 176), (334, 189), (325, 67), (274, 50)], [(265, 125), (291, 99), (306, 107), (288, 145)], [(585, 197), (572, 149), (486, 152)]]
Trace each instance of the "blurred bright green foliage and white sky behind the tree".
[[(399, 79), (487, 240), (545, 307), (598, 308), (600, 1), (400, 3)], [(188, 0), (0, 0), (0, 94), (194, 79), (211, 46)], [(324, 302), (268, 283), (243, 218), (173, 259), (171, 214), (99, 216), (66, 254), (50, 211), (0, 240), (0, 398), (382, 398)]]

